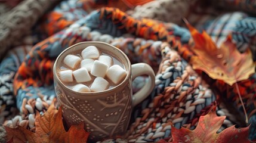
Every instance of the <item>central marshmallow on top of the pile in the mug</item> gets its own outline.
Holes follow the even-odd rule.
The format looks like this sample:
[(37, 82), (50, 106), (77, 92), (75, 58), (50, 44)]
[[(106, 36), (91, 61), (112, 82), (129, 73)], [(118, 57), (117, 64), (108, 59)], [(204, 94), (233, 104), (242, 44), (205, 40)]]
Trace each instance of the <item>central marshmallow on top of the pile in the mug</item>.
[(104, 77), (107, 73), (107, 69), (109, 69), (109, 66), (101, 61), (95, 60), (91, 68), (91, 74), (96, 77)]

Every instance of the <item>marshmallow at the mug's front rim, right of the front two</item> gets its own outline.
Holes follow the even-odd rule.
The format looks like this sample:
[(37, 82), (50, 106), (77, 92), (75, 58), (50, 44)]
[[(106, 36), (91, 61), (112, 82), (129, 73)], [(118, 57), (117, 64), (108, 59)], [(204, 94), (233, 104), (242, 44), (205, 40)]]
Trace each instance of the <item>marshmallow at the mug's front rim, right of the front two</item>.
[(96, 77), (91, 85), (91, 91), (104, 91), (107, 86), (109, 86), (109, 82), (107, 82), (107, 80), (102, 77)]

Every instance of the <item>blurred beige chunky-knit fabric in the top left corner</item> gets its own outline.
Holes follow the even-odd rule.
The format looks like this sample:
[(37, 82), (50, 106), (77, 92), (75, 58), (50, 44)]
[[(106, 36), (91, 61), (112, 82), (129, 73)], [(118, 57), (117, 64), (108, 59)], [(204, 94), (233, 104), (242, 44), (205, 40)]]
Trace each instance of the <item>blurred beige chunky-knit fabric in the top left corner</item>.
[(0, 57), (14, 41), (27, 35), (33, 24), (55, 1), (23, 1), (0, 17)]

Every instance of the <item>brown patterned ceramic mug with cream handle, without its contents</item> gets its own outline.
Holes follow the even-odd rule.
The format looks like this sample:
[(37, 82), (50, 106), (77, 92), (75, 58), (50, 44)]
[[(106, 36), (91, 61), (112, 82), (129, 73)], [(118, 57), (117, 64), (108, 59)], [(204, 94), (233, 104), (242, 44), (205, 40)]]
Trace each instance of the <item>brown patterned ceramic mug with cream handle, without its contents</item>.
[[(66, 55), (96, 46), (101, 51), (108, 51), (124, 64), (127, 76), (117, 86), (100, 92), (75, 92), (61, 82), (57, 69)], [(100, 140), (124, 135), (131, 117), (132, 107), (143, 101), (155, 87), (155, 73), (146, 63), (130, 63), (127, 55), (115, 46), (104, 42), (81, 42), (70, 46), (58, 55), (53, 67), (54, 88), (58, 102), (62, 105), (63, 119), (67, 128), (84, 122), (84, 129), (91, 132), (90, 138)], [(149, 80), (143, 88), (132, 95), (132, 80), (137, 76), (148, 75)]]

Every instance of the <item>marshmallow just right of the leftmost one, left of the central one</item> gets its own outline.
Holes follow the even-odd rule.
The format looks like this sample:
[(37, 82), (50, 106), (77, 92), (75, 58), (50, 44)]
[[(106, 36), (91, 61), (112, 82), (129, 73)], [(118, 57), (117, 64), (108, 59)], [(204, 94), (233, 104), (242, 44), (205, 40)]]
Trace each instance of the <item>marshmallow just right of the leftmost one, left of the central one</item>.
[(91, 80), (91, 76), (85, 67), (82, 67), (78, 70), (73, 71), (73, 75), (76, 79), (76, 82), (78, 83), (88, 82)]

